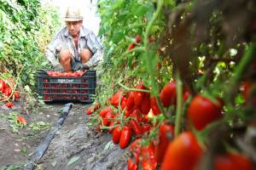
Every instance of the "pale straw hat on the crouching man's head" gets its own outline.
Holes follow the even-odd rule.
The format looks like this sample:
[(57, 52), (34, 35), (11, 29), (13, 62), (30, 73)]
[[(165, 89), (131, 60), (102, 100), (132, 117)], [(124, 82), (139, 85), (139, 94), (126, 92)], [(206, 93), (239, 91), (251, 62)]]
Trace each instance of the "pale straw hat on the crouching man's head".
[(79, 21), (79, 20), (83, 20), (83, 16), (82, 16), (79, 8), (68, 7), (64, 20), (65, 21)]

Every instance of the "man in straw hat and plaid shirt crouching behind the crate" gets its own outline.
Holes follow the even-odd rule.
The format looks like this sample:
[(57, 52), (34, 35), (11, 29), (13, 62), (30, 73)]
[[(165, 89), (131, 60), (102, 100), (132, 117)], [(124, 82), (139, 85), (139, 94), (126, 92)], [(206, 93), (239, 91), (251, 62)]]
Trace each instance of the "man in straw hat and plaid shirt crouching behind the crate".
[(55, 71), (90, 69), (102, 60), (102, 45), (95, 34), (82, 26), (79, 8), (67, 8), (66, 27), (57, 33), (46, 50)]

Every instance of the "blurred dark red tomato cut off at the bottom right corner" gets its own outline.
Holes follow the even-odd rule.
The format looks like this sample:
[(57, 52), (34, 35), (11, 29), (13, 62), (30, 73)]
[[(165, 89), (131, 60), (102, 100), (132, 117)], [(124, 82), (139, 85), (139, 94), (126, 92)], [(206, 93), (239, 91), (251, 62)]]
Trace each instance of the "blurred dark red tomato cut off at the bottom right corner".
[(253, 163), (246, 156), (226, 153), (214, 158), (215, 170), (253, 170)]

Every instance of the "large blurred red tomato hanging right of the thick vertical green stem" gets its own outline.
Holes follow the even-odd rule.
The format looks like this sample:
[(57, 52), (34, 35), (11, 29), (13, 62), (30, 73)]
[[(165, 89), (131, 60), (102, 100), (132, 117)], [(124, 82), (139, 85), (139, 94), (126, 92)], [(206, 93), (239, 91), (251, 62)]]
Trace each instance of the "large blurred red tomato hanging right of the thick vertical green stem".
[(218, 101), (218, 105), (215, 105), (209, 99), (196, 95), (188, 108), (187, 121), (192, 122), (197, 130), (201, 130), (207, 126), (207, 124), (218, 120), (221, 115), (222, 105)]

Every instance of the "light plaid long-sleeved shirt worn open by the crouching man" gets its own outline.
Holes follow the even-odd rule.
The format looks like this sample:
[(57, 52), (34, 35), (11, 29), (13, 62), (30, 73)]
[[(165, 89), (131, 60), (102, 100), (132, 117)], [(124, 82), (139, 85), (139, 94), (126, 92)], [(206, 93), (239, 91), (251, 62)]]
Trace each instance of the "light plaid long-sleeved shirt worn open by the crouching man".
[(68, 33), (67, 27), (57, 33), (46, 49), (46, 57), (52, 65), (55, 66), (59, 63), (59, 54), (62, 48), (68, 48), (76, 61), (81, 60), (79, 56), (81, 50), (88, 48), (92, 54), (92, 57), (86, 63), (89, 66), (95, 66), (98, 62), (102, 61), (102, 44), (98, 42), (95, 34), (84, 28), (84, 26), (79, 31), (78, 48), (75, 48), (73, 37)]

